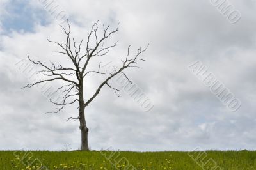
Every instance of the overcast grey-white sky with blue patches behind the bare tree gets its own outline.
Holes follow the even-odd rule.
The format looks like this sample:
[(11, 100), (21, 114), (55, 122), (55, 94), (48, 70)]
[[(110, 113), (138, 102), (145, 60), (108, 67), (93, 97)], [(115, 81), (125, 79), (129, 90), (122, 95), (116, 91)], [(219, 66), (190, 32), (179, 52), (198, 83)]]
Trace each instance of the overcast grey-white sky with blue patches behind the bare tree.
[[(256, 149), (256, 1), (228, 1), (233, 17), (239, 12), (235, 23), (212, 0), (56, 0), (53, 4), (63, 17), (49, 12), (45, 2), (0, 0), (0, 150), (63, 150), (67, 145), (79, 149), (79, 122), (66, 121), (77, 115), (77, 105), (45, 114), (54, 105), (36, 87), (21, 89), (31, 79), (15, 65), (28, 55), (47, 65), (50, 60), (70, 65), (65, 56), (52, 53), (58, 47), (47, 42), (49, 38), (65, 43), (60, 25), (67, 17), (77, 42), (86, 42), (97, 20), (101, 31), (102, 24), (115, 29), (120, 23), (108, 40), (119, 40), (118, 47), (93, 60), (90, 68), (97, 69), (99, 61), (120, 65), (129, 45), (132, 56), (150, 44), (141, 55), (146, 61), (138, 62), (141, 69), (126, 73), (154, 107), (145, 111), (111, 81), (121, 89), (120, 97), (104, 87), (85, 111), (90, 150)], [(197, 68), (189, 69), (196, 61), (234, 94), (241, 107), (232, 111), (212, 93), (195, 73)], [(85, 97), (101, 79), (95, 75), (86, 80)]]

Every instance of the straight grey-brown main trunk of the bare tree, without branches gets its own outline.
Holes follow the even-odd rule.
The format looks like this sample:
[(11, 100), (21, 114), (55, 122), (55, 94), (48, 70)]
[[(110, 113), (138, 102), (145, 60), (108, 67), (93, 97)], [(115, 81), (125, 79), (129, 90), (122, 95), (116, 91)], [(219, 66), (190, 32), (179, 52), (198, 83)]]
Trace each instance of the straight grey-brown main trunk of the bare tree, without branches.
[(81, 150), (88, 151), (88, 131), (86, 126), (85, 115), (84, 115), (84, 97), (83, 97), (83, 81), (79, 87), (79, 120), (80, 120), (80, 130), (81, 130)]

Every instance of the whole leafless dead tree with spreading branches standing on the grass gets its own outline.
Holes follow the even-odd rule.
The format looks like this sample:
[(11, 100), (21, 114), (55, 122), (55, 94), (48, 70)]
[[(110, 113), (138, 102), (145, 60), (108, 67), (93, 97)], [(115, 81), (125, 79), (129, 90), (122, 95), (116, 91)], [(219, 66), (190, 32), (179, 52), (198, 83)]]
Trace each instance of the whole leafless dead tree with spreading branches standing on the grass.
[[(68, 120), (79, 120), (80, 121), (80, 130), (81, 130), (81, 150), (89, 150), (88, 148), (88, 127), (86, 126), (86, 119), (85, 119), (85, 108), (88, 107), (90, 102), (99, 95), (100, 90), (102, 89), (103, 86), (108, 86), (109, 88), (113, 89), (116, 93), (116, 91), (119, 91), (118, 89), (114, 88), (109, 84), (109, 81), (113, 79), (118, 74), (123, 74), (126, 79), (129, 80), (127, 75), (124, 73), (124, 70), (127, 68), (139, 68), (136, 66), (137, 61), (145, 61), (144, 59), (139, 58), (140, 54), (145, 52), (147, 50), (147, 47), (145, 49), (138, 49), (138, 53), (135, 54), (133, 58), (129, 57), (129, 50), (130, 46), (128, 47), (127, 50), (127, 56), (125, 60), (122, 60), (122, 65), (120, 68), (115, 69), (115, 72), (100, 72), (100, 63), (99, 63), (99, 68), (97, 71), (95, 70), (88, 70), (88, 64), (92, 60), (92, 58), (100, 57), (100, 56), (105, 56), (108, 54), (109, 49), (116, 47), (117, 42), (113, 45), (106, 46), (104, 45), (104, 42), (106, 39), (111, 37), (114, 33), (118, 31), (119, 24), (116, 27), (115, 30), (109, 31), (109, 26), (104, 26), (103, 25), (103, 36), (99, 38), (99, 35), (97, 33), (98, 31), (98, 22), (93, 24), (92, 29), (88, 33), (87, 37), (87, 42), (84, 50), (84, 54), (81, 54), (81, 46), (83, 44), (83, 40), (79, 44), (76, 43), (74, 38), (70, 37), (70, 24), (68, 24), (68, 29), (65, 29), (63, 26), (63, 31), (65, 33), (65, 36), (67, 36), (67, 39), (65, 40), (64, 45), (62, 43), (58, 43), (52, 40), (48, 40), (50, 43), (54, 43), (57, 45), (61, 50), (55, 51), (55, 53), (61, 54), (65, 56), (70, 62), (72, 62), (72, 68), (65, 68), (62, 65), (56, 65), (51, 62), (51, 66), (47, 66), (43, 64), (40, 61), (35, 61), (29, 58), (29, 61), (31, 61), (35, 65), (39, 65), (44, 70), (40, 70), (41, 73), (44, 73), (45, 79), (41, 79), (40, 81), (29, 83), (24, 88), (31, 88), (32, 86), (35, 86), (36, 84), (41, 84), (44, 82), (49, 82), (49, 81), (63, 81), (65, 82), (65, 85), (61, 86), (59, 89), (63, 89), (63, 100), (61, 102), (54, 102), (51, 100), (52, 103), (58, 106), (57, 111), (54, 111), (55, 113), (60, 112), (65, 105), (70, 105), (78, 102), (79, 104), (79, 113), (77, 115), (77, 118), (68, 118)], [(93, 47), (91, 40), (94, 38), (93, 42)], [(97, 90), (95, 93), (93, 93), (92, 97), (89, 97), (88, 100), (84, 100), (84, 94), (85, 89), (84, 89), (84, 81), (86, 80), (86, 75), (95, 73), (95, 75), (102, 75), (104, 76), (104, 81), (98, 86)], [(130, 80), (129, 80), (130, 81)], [(131, 81), (130, 81), (131, 82)], [(74, 92), (75, 90), (75, 92)], [(72, 98), (72, 101), (68, 102)], [(74, 99), (75, 98), (75, 99)], [(74, 100), (73, 100), (74, 99)], [(77, 109), (78, 109), (77, 108)]]

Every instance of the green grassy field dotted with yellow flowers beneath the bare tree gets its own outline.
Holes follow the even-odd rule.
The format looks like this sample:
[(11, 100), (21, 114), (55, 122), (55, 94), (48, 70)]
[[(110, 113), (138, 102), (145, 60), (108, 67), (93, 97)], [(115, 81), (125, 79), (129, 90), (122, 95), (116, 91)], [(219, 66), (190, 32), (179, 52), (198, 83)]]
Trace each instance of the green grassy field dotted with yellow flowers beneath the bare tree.
[(0, 151), (0, 169), (256, 169), (256, 151)]

